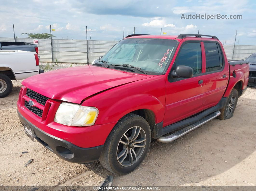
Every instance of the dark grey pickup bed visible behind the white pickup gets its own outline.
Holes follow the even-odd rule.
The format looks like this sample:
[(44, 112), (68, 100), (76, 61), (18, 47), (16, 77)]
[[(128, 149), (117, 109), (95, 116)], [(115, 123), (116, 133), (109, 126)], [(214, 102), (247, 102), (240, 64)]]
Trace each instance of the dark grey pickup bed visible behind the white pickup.
[(0, 42), (0, 50), (24, 50), (38, 54), (38, 47), (27, 42)]

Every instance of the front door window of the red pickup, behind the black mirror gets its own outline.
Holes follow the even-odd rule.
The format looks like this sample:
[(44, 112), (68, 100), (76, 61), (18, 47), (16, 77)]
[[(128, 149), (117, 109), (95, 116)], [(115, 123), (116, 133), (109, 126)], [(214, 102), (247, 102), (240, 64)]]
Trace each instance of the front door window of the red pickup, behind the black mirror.
[(182, 46), (175, 60), (176, 66), (185, 65), (193, 69), (193, 74), (202, 71), (202, 54), (200, 43), (186, 43)]

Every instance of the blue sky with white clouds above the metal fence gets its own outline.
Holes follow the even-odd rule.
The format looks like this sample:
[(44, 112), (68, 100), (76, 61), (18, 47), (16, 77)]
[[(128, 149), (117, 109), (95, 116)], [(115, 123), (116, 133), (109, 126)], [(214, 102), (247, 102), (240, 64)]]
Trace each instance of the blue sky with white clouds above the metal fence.
[[(49, 33), (57, 39), (121, 40), (136, 34), (178, 35), (197, 33), (217, 36), (226, 44), (256, 45), (256, 2), (241, 0), (82, 1), (1, 0), (0, 37), (27, 33)], [(181, 19), (184, 15), (242, 15), (243, 19)]]

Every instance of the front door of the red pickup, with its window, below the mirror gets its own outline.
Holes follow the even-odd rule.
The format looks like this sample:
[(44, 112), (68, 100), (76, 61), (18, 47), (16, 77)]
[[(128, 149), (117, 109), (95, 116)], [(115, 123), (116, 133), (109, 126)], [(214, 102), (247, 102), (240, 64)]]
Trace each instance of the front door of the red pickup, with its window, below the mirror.
[(179, 65), (186, 65), (193, 69), (193, 77), (168, 78), (163, 126), (185, 119), (202, 110), (204, 101), (202, 54), (200, 41), (187, 41), (181, 45), (172, 70)]

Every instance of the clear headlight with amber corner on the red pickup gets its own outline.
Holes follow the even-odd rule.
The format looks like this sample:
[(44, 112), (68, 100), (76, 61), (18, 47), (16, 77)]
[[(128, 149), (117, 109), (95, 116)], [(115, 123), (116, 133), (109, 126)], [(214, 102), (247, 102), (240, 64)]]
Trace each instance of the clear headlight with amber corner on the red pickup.
[(55, 114), (54, 121), (69, 126), (90, 126), (98, 117), (95, 107), (80, 106), (62, 102)]

